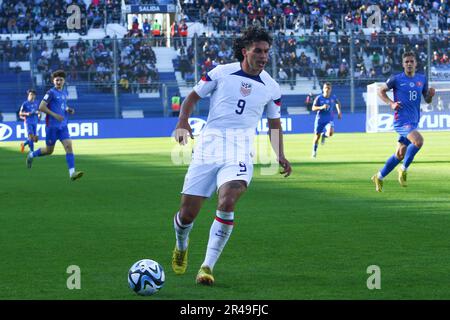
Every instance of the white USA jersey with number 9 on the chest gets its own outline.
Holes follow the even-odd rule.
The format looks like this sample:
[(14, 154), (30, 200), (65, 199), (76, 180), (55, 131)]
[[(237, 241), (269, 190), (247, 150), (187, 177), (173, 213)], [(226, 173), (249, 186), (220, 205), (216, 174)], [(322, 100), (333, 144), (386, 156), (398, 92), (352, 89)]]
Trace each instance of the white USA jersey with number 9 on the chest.
[(201, 98), (211, 94), (211, 102), (206, 125), (196, 139), (193, 159), (251, 162), (256, 127), (264, 108), (267, 106), (267, 118), (280, 118), (278, 83), (266, 71), (249, 75), (236, 62), (209, 71), (194, 91)]

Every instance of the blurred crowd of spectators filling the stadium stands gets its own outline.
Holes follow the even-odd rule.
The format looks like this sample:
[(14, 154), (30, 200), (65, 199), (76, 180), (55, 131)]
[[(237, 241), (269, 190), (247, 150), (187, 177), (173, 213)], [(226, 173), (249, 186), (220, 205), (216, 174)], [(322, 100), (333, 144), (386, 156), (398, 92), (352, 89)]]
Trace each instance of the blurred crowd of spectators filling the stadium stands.
[[(234, 37), (246, 25), (258, 24), (272, 31), (274, 37), (268, 70), (275, 71), (277, 79), (292, 89), (298, 77), (344, 82), (352, 71), (356, 83), (365, 85), (401, 70), (401, 55), (408, 50), (416, 52), (419, 69), (426, 67), (428, 59), (431, 66), (450, 66), (447, 2), (181, 0), (182, 19), (174, 21), (167, 33), (161, 28), (161, 21), (145, 20), (139, 25), (134, 19), (129, 33), (117, 42), (117, 55), (113, 55), (114, 40), (109, 36), (101, 40), (79, 39), (76, 43), (65, 41), (60, 34), (68, 31), (62, 13), (70, 5), (79, 6), (83, 30), (80, 33), (85, 33), (89, 28), (120, 21), (120, 0), (4, 0), (0, 5), (0, 32), (31, 31), (41, 37), (32, 43), (31, 36), (15, 41), (1, 36), (0, 60), (33, 61), (46, 81), (52, 71), (64, 68), (69, 81), (89, 80), (99, 90), (111, 90), (110, 83), (116, 76), (124, 92), (152, 92), (158, 90), (159, 82), (152, 47), (173, 46), (178, 52), (176, 70), (188, 84), (193, 84), (195, 67), (203, 74), (218, 64), (234, 61)], [(173, 1), (126, 1), (138, 3)], [(363, 27), (373, 20), (374, 8), (380, 10), (381, 31), (370, 29), (371, 34), (365, 34)], [(203, 32), (194, 42), (187, 23), (198, 21), (215, 32)], [(417, 32), (407, 32), (413, 29)], [(43, 40), (44, 34), (53, 34), (53, 40)], [(114, 56), (118, 57), (116, 62)], [(354, 62), (352, 66), (350, 61)]]

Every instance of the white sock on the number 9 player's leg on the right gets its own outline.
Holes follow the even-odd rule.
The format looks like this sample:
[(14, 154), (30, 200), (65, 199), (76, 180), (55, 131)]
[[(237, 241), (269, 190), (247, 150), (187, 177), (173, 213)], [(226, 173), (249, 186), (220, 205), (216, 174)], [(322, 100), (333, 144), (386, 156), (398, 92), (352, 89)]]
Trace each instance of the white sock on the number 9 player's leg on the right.
[(209, 231), (208, 247), (202, 266), (208, 266), (211, 270), (214, 268), (225, 244), (230, 238), (231, 231), (233, 231), (233, 224), (234, 212), (216, 211), (216, 218)]

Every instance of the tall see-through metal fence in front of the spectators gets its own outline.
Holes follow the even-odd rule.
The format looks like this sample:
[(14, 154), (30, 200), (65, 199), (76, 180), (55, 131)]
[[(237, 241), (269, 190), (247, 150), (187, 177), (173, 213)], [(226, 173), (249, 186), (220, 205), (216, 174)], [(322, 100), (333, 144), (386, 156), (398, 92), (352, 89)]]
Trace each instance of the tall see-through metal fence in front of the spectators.
[[(114, 117), (120, 117), (122, 97), (133, 94), (158, 96), (166, 108), (164, 114), (170, 115), (167, 106), (173, 94), (191, 88), (215, 65), (235, 61), (235, 36), (203, 33), (186, 38), (140, 34), (88, 40), (65, 40), (61, 36), (51, 40), (3, 38), (0, 92), (9, 96), (8, 103), (19, 104), (26, 89), (46, 90), (51, 86), (51, 72), (64, 69), (67, 84), (77, 86), (78, 94), (92, 94), (94, 100), (96, 93), (109, 95), (108, 103), (114, 104), (116, 110)], [(346, 111), (350, 112), (364, 110), (355, 97), (368, 84), (385, 81), (392, 73), (402, 71), (401, 55), (405, 51), (416, 53), (418, 71), (427, 74), (430, 81), (450, 80), (448, 33), (277, 32), (273, 38), (266, 70), (282, 87), (292, 88), (292, 94), (307, 95), (309, 88), (320, 90), (324, 81), (330, 81), (345, 88), (350, 99)], [(165, 53), (158, 56), (161, 48), (174, 49), (170, 58), (173, 69), (159, 68), (161, 60), (168, 59)]]

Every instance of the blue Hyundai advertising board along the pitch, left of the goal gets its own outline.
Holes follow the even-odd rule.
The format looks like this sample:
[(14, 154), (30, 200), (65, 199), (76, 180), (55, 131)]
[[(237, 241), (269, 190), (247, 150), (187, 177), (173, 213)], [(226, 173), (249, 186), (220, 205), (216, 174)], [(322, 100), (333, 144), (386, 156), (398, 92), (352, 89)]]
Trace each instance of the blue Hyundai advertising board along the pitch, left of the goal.
[[(315, 115), (293, 115), (282, 117), (283, 132), (313, 133)], [(143, 118), (143, 119), (103, 119), (70, 121), (69, 133), (73, 139), (105, 139), (105, 138), (146, 138), (170, 137), (175, 129), (178, 118)], [(193, 134), (201, 132), (206, 124), (206, 118), (189, 119)], [(336, 132), (364, 132), (365, 114), (344, 114), (342, 120), (335, 120)], [(257, 131), (268, 131), (267, 119), (259, 121)], [(37, 134), (45, 138), (45, 123), (38, 124)], [(27, 131), (23, 122), (0, 123), (0, 141), (24, 140)]]

